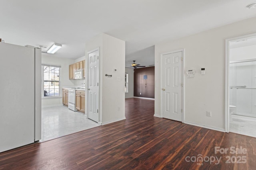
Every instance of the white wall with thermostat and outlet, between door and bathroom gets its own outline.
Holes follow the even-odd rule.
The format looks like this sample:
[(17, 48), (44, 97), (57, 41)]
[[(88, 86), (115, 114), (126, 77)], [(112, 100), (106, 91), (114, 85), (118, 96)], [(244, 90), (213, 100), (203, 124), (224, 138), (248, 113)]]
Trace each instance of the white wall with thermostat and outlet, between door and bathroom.
[[(160, 54), (184, 48), (184, 70), (196, 70), (194, 78), (184, 81), (185, 123), (224, 131), (225, 39), (255, 32), (256, 18), (250, 18), (155, 45), (155, 114), (160, 116)], [(212, 117), (206, 117), (206, 111), (212, 111)]]

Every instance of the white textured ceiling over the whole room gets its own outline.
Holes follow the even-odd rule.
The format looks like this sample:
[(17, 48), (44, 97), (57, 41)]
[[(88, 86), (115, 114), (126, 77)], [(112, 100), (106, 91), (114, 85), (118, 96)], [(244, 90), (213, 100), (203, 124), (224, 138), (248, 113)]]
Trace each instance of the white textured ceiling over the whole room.
[[(77, 59), (99, 33), (126, 41), (126, 64), (166, 39), (256, 16), (252, 0), (0, 0), (0, 37), (17, 45), (63, 45), (52, 56)], [(42, 49), (46, 51), (46, 49)], [(153, 57), (152, 57), (153, 56)], [(154, 64), (154, 55), (146, 58)], [(145, 58), (145, 57), (144, 57)]]

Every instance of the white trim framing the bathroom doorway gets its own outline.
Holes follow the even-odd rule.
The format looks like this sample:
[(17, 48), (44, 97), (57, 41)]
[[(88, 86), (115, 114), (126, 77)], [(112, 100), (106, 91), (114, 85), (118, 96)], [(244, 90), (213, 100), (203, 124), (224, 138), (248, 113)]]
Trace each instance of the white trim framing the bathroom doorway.
[(256, 37), (256, 33), (243, 35), (239, 37), (234, 37), (230, 39), (226, 39), (226, 54), (225, 54), (225, 61), (226, 61), (226, 71), (225, 71), (225, 132), (229, 132), (229, 62), (230, 62), (230, 56), (229, 51), (230, 42), (239, 41), (247, 38)]

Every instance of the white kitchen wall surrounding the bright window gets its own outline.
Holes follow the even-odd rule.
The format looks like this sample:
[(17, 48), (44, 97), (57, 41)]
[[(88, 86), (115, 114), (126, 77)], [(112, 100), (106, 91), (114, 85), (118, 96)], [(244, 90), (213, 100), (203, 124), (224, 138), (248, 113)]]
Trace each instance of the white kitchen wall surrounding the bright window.
[(42, 53), (43, 64), (61, 65), (60, 94), (59, 98), (42, 98), (42, 107), (62, 105), (62, 87), (74, 86), (76, 80), (69, 80), (69, 65), (75, 63), (73, 59), (52, 57), (50, 54)]

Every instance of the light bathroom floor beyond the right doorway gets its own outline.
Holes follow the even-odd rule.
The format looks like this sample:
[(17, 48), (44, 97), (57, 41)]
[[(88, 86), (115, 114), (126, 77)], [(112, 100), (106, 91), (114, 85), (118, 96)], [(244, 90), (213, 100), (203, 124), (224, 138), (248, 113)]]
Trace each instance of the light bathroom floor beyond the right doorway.
[(229, 122), (229, 131), (241, 135), (256, 137), (256, 122), (234, 119)]

